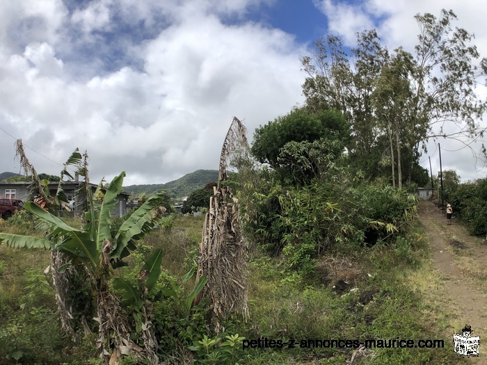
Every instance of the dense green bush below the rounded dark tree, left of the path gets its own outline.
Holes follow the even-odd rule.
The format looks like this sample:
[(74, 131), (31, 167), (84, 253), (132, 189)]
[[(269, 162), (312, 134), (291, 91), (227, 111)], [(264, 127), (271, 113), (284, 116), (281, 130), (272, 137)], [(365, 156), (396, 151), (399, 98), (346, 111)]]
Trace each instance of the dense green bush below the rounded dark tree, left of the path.
[(272, 171), (241, 190), (244, 227), (266, 252), (283, 252), (307, 271), (312, 258), (337, 244), (390, 241), (404, 233), (416, 198), (381, 181), (371, 184), (331, 164), (329, 174), (305, 186), (286, 186)]

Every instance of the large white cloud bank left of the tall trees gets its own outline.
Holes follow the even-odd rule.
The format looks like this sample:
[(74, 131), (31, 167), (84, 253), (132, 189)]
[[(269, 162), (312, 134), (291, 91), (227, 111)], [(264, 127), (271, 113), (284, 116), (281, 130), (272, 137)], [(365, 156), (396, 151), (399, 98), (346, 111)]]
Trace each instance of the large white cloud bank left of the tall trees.
[[(138, 9), (138, 16), (147, 14), (146, 5), (125, 3)], [(97, 66), (88, 79), (72, 74), (75, 67), (83, 67), (86, 55), (76, 59), (77, 49), (64, 43), (66, 34), (83, 31), (74, 39), (78, 47), (91, 44), (98, 31), (111, 32), (116, 26), (108, 20), (122, 14), (111, 1), (74, 10), (63, 42), (35, 39), (21, 52), (3, 49), (3, 129), (59, 163), (74, 147), (87, 149), (94, 181), (126, 170), (126, 184), (160, 183), (198, 168), (217, 168), (234, 115), (244, 119), (252, 133), (302, 100), (299, 56), (305, 49), (294, 44), (292, 35), (250, 22), (225, 25), (209, 13), (211, 1), (169, 4), (175, 8), (166, 3), (154, 11), (163, 18), (177, 13), (177, 19), (140, 44), (125, 42), (130, 53), (119, 61), (126, 65), (115, 70), (100, 70), (97, 61), (102, 52), (118, 51), (120, 42), (114, 34), (107, 35), (103, 45), (113, 48), (93, 54), (89, 62)], [(245, 6), (244, 1), (233, 1), (218, 13), (244, 12)], [(159, 18), (152, 14), (150, 19)], [(134, 58), (141, 60), (138, 67), (130, 65)], [(0, 134), (0, 142), (9, 140), (13, 143)], [(6, 158), (13, 154), (12, 149), (0, 157), (3, 170), (10, 169)], [(29, 158), (40, 172), (60, 170), (34, 152)]]

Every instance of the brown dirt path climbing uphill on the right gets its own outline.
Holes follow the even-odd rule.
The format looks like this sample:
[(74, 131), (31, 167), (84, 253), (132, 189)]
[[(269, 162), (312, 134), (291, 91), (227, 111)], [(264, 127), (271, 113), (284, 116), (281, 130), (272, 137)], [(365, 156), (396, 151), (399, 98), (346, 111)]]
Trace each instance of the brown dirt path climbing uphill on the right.
[(442, 282), (438, 310), (447, 316), (445, 335), (470, 325), (481, 343), (480, 356), (471, 361), (487, 364), (487, 241), (469, 236), (456, 220), (447, 225), (445, 213), (432, 202), (420, 202), (418, 213)]

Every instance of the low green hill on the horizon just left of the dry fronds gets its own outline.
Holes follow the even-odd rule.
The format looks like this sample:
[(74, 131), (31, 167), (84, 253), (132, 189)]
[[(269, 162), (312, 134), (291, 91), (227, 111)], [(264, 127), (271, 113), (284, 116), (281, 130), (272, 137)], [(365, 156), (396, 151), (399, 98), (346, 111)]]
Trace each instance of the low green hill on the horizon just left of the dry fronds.
[(217, 170), (196, 170), (166, 184), (130, 185), (124, 186), (123, 189), (126, 193), (135, 193), (136, 195), (141, 193), (150, 195), (159, 190), (166, 190), (170, 197), (177, 199), (191, 194), (194, 190), (202, 188), (210, 182), (216, 182), (217, 179)]

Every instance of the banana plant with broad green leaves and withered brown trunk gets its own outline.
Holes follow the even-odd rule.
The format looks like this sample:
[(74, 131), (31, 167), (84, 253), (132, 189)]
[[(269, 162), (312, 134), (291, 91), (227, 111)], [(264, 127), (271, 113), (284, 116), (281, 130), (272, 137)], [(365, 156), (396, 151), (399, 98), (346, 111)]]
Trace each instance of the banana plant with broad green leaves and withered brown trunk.
[[(134, 213), (125, 220), (115, 236), (111, 236), (110, 211), (117, 204), (117, 196), (122, 191), (125, 172), (115, 177), (100, 199), (94, 200), (88, 193), (89, 209), (84, 213), (86, 224), (82, 229), (70, 227), (63, 220), (40, 208), (33, 202), (26, 202), (25, 209), (31, 211), (49, 228), (45, 238), (0, 233), (0, 243), (13, 248), (45, 248), (63, 252), (67, 265), (81, 265), (90, 277), (90, 284), (97, 302), (99, 339), (102, 357), (110, 364), (117, 364), (122, 354), (157, 362), (157, 341), (150, 332), (143, 335), (145, 348), (141, 351), (130, 339), (130, 326), (120, 307), (120, 300), (109, 291), (109, 282), (114, 269), (123, 266), (123, 259), (136, 249), (136, 241), (158, 227), (161, 218), (159, 206), (165, 193), (150, 196)], [(96, 195), (95, 195), (96, 196)], [(145, 286), (153, 286), (157, 281), (161, 252), (156, 252), (152, 261), (143, 269), (147, 271)], [(61, 268), (60, 268), (61, 270)], [(108, 354), (108, 355), (107, 355)]]

